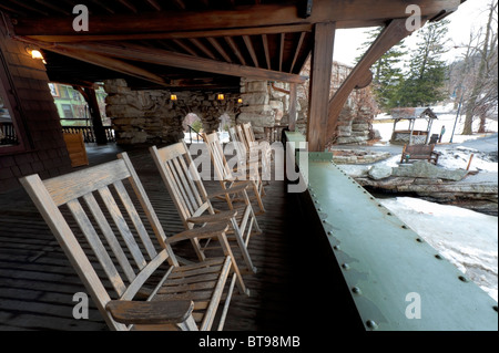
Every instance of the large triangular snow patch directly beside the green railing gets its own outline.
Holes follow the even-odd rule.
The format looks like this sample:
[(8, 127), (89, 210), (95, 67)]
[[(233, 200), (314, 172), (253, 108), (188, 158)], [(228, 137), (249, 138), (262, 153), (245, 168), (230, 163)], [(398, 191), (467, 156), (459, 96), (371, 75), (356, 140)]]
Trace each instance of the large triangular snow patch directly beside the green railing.
[(411, 197), (379, 201), (498, 300), (498, 218)]

